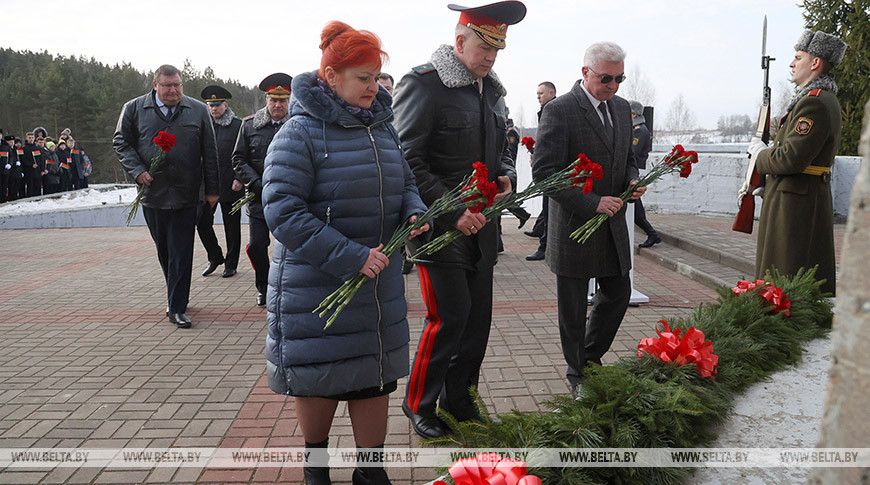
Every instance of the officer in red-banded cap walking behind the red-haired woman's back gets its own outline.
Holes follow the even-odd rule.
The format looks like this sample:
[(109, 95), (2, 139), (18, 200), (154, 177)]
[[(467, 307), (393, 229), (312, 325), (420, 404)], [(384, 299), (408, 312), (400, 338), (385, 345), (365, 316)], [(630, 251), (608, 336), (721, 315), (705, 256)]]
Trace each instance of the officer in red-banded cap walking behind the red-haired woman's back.
[(257, 287), (257, 305), (266, 305), (266, 287), (269, 283), (269, 226), (263, 215), (263, 204), (260, 200), (263, 192), (263, 168), (266, 160), (266, 150), (275, 133), (290, 119), (289, 74), (278, 72), (266, 76), (260, 82), (260, 90), (266, 93), (266, 106), (248, 116), (242, 123), (242, 129), (233, 150), (233, 169), (236, 176), (245, 184), (248, 192), (254, 194), (254, 200), (247, 204), (248, 230), (250, 239), (247, 253), (254, 266), (254, 283)]

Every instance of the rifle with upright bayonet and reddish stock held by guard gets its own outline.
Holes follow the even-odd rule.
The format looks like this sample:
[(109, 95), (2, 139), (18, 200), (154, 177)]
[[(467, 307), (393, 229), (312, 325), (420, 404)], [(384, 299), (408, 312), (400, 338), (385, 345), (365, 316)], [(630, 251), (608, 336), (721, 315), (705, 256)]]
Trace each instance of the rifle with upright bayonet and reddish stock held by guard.
[[(773, 57), (767, 55), (767, 15), (764, 16), (764, 27), (761, 34), (761, 70), (764, 71), (764, 88), (762, 90), (761, 109), (758, 112), (758, 124), (755, 136), (767, 143), (770, 141), (770, 61)], [(755, 159), (750, 155), (749, 167), (746, 170), (746, 181), (738, 193), (737, 217), (731, 229), (734, 231), (752, 234), (752, 224), (755, 217), (755, 196), (764, 192), (764, 177), (755, 169)]]

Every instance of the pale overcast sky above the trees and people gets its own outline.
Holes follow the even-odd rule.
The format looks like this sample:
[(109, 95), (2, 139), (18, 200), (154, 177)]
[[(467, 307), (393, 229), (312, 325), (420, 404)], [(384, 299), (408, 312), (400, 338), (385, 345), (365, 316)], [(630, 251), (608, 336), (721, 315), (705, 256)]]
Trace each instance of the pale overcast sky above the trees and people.
[[(164, 63), (181, 67), (187, 58), (199, 69), (211, 66), (219, 77), (254, 86), (273, 72), (295, 75), (316, 69), (321, 29), (330, 20), (341, 20), (381, 38), (391, 58), (383, 70), (398, 81), (410, 68), (427, 62), (438, 45), (452, 42), (458, 14), (447, 3), (0, 0), (7, 14), (0, 46), (94, 57), (109, 64), (129, 62), (145, 71)], [(655, 88), (657, 124), (678, 94), (706, 128), (714, 128), (721, 115), (755, 119), (765, 14), (768, 53), (776, 58), (770, 81), (774, 102), (793, 87), (787, 82), (788, 64), (803, 30), (796, 0), (525, 3), (528, 14), (508, 29), (507, 48), (499, 54), (495, 71), (507, 87), (512, 116), (527, 126), (535, 123), (537, 84), (549, 80), (559, 94), (569, 90), (580, 77), (586, 47), (602, 40), (620, 44), (628, 52), (626, 73), (640, 69)], [(42, 20), (28, 14), (37, 5), (45, 14)], [(12, 21), (15, 17), (21, 21)]]

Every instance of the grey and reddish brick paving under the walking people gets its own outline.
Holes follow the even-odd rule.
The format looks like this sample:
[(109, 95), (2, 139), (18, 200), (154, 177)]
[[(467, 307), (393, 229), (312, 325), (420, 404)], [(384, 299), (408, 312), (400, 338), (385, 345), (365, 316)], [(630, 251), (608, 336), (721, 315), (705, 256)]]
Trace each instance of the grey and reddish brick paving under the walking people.
[[(492, 411), (535, 411), (568, 391), (555, 277), (543, 262), (523, 259), (537, 240), (512, 221), (504, 227), (480, 391)], [(0, 448), (301, 446), (292, 398), (265, 384), (265, 310), (254, 306), (247, 264), (234, 278), (203, 278), (197, 242), (194, 327), (180, 330), (163, 314), (163, 277), (144, 228), (0, 231), (0, 247)], [(633, 355), (659, 319), (716, 296), (643, 259), (635, 276), (650, 303), (629, 309), (606, 363)], [(407, 294), (413, 358), (424, 312), (416, 271)], [(401, 396), (391, 399), (387, 446), (418, 443)], [(354, 446), (345, 406), (330, 444)], [(350, 473), (335, 470), (333, 480), (349, 483)], [(397, 484), (435, 478), (427, 469), (390, 475)], [(0, 470), (0, 483), (300, 483), (300, 476), (299, 468), (18, 468)]]

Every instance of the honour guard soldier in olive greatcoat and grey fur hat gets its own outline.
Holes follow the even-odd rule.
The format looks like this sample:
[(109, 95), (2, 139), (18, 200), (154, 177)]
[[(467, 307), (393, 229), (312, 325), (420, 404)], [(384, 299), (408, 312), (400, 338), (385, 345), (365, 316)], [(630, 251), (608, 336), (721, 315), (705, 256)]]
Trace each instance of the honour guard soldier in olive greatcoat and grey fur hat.
[(831, 165), (840, 147), (842, 119), (831, 70), (843, 60), (846, 44), (835, 35), (804, 31), (795, 44), (792, 82), (797, 92), (780, 120), (776, 142), (749, 145), (755, 168), (767, 176), (756, 277), (777, 268), (794, 275), (818, 265), (822, 291), (835, 293), (834, 209)]

